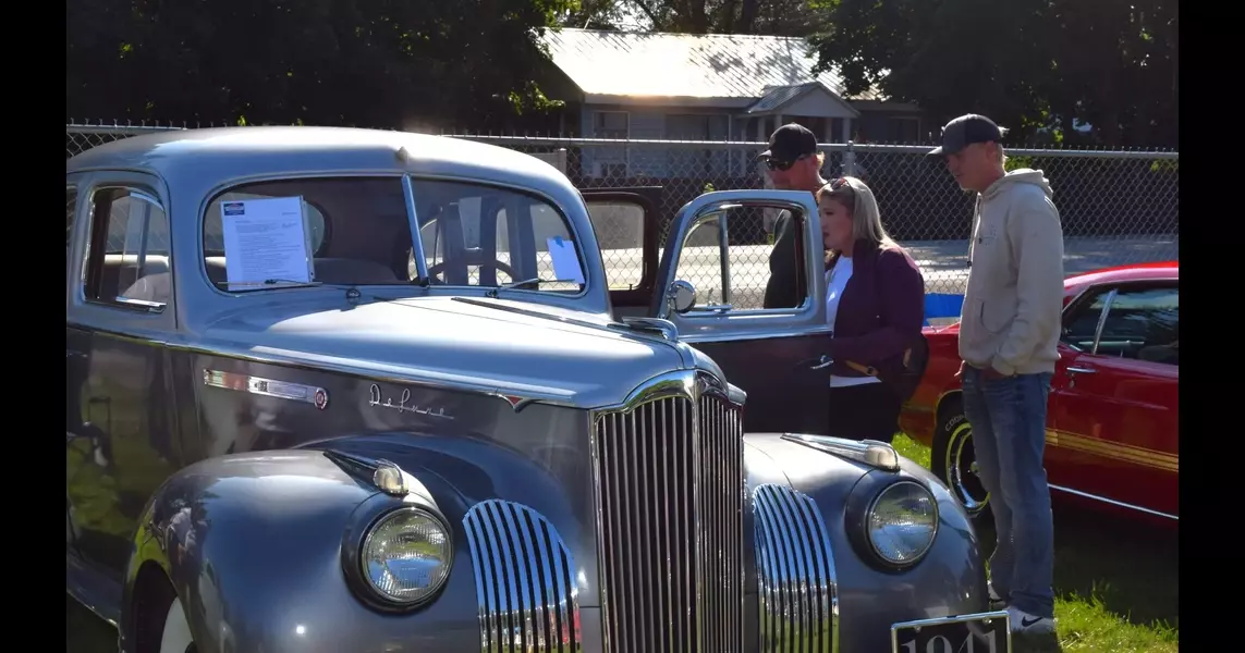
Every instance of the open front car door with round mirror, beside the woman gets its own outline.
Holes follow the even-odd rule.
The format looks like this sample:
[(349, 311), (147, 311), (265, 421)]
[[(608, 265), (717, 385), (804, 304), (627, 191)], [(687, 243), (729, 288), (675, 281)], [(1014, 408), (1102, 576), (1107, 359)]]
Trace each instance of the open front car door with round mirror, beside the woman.
[[(769, 243), (767, 211), (791, 214), (793, 246)], [(748, 393), (749, 432), (829, 432), (820, 229), (812, 193), (796, 190), (706, 193), (671, 224), (649, 315)]]

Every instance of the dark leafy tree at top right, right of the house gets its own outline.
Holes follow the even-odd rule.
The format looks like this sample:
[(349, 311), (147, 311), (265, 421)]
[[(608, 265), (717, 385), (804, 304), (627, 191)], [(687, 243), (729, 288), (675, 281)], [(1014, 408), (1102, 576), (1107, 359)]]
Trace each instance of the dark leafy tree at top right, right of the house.
[(939, 118), (986, 113), (1030, 138), (1175, 146), (1170, 0), (813, 0), (819, 67)]

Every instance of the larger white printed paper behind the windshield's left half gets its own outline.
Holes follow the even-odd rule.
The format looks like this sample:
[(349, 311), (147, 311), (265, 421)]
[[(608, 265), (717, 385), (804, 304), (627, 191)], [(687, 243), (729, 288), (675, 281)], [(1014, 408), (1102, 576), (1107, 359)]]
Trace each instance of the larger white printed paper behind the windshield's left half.
[(229, 290), (261, 287), (269, 280), (311, 281), (311, 243), (301, 197), (223, 201), (220, 226)]

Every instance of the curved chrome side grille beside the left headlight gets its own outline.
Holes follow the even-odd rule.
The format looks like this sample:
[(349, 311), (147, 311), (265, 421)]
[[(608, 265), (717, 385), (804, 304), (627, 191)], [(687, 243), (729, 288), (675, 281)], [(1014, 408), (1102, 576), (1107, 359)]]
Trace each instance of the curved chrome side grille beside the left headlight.
[(476, 577), (481, 648), (504, 653), (581, 649), (575, 562), (535, 510), (488, 499), (463, 515)]

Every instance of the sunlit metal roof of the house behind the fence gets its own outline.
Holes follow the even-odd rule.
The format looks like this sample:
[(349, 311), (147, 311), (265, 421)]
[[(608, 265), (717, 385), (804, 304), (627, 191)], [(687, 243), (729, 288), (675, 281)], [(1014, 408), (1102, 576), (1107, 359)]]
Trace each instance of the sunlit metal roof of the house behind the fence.
[(774, 87), (814, 81), (843, 93), (837, 70), (813, 77), (815, 52), (798, 37), (563, 27), (540, 39), (553, 63), (588, 96), (720, 98), (742, 107)]

